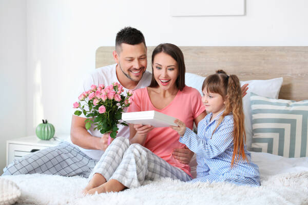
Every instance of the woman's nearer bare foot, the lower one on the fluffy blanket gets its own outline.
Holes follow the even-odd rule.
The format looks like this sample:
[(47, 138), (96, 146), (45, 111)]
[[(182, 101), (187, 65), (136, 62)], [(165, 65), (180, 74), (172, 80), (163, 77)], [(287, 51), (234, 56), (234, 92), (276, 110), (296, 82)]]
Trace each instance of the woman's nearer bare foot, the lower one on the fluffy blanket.
[(118, 180), (110, 179), (103, 185), (90, 189), (86, 194), (95, 194), (95, 192), (106, 193), (106, 192), (120, 192), (126, 187), (122, 185)]

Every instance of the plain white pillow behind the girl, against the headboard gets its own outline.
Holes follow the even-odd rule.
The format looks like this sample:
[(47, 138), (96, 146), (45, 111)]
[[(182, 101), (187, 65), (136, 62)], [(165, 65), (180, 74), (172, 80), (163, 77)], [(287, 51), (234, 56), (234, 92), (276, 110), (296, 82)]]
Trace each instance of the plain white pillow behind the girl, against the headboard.
[[(214, 73), (214, 72), (213, 72)], [(193, 73), (185, 73), (185, 85), (196, 88), (200, 94), (202, 93), (202, 84), (205, 77), (196, 75)], [(248, 150), (252, 146), (253, 130), (251, 119), (251, 105), (250, 105), (250, 93), (256, 93), (258, 95), (278, 98), (278, 94), (282, 85), (282, 77), (268, 79), (268, 80), (248, 80), (240, 81), (241, 86), (248, 85), (247, 95), (243, 97), (243, 110), (245, 115), (245, 131), (246, 131), (246, 145)]]

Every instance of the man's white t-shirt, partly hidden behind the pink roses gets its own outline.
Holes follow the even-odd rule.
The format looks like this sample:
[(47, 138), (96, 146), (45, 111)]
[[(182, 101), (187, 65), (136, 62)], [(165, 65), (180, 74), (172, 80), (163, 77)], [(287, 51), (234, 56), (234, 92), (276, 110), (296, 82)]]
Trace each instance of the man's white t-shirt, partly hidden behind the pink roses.
[[(84, 91), (90, 90), (91, 85), (97, 85), (98, 86), (100, 84), (104, 84), (105, 86), (109, 86), (114, 82), (120, 83), (118, 78), (117, 78), (117, 74), (115, 72), (115, 66), (117, 66), (117, 64), (101, 67), (101, 68), (95, 69), (93, 72), (91, 72), (85, 78), (79, 94), (81, 94)], [(142, 76), (141, 80), (139, 81), (138, 85), (136, 86), (136, 88), (132, 89), (132, 91), (139, 89), (139, 88), (144, 88), (144, 87), (149, 86), (150, 82), (151, 82), (151, 77), (152, 77), (152, 74), (149, 71), (145, 71), (143, 73), (143, 76)], [(126, 92), (128, 91), (128, 89), (126, 89), (125, 87), (123, 87), (123, 88), (124, 88), (123, 95), (126, 96)], [(84, 101), (81, 101), (81, 105), (83, 105), (82, 103), (84, 103)], [(77, 110), (77, 109), (74, 109), (74, 110)], [(127, 107), (124, 108), (124, 112), (126, 112), (126, 110), (127, 110)], [(81, 114), (80, 117), (87, 118), (84, 114)], [(119, 130), (118, 130), (117, 136), (123, 136), (123, 137), (127, 137), (127, 138), (129, 137), (129, 127), (118, 125), (118, 128), (119, 128)], [(94, 126), (92, 124), (92, 126), (88, 130), (88, 132), (93, 136), (102, 137), (102, 134), (101, 134), (100, 131), (93, 130), (93, 129), (94, 129)], [(102, 151), (102, 150), (88, 150), (88, 149), (81, 148), (79, 146), (76, 146), (76, 147), (78, 147), (88, 157), (95, 159), (95, 160), (99, 160), (104, 153), (104, 151)]]

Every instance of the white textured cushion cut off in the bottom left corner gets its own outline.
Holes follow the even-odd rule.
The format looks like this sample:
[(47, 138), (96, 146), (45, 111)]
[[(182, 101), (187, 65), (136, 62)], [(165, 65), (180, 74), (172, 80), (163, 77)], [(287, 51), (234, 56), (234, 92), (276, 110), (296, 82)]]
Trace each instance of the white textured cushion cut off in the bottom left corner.
[(0, 204), (13, 204), (21, 196), (21, 190), (8, 179), (0, 177)]

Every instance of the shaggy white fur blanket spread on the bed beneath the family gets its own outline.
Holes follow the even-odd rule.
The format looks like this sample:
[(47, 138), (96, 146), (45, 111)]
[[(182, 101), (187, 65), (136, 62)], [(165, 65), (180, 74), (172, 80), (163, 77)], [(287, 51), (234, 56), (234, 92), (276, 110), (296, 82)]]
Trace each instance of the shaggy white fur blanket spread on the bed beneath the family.
[(170, 178), (119, 193), (82, 196), (87, 179), (43, 174), (3, 176), (22, 190), (18, 204), (308, 204), (308, 172), (262, 178), (261, 187), (185, 183)]

